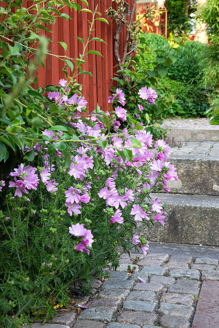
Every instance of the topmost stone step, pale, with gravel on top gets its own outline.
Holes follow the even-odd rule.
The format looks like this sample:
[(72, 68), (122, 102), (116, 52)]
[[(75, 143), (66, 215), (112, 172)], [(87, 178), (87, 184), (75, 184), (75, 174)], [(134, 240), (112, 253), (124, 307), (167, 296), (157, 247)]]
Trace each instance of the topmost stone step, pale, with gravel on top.
[(209, 119), (167, 119), (167, 137), (175, 141), (218, 141), (219, 125), (210, 125)]

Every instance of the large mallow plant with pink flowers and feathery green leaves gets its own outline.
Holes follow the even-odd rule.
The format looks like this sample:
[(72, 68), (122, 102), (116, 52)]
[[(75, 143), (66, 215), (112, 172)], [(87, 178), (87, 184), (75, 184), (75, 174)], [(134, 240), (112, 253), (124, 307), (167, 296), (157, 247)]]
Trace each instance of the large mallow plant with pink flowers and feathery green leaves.
[[(70, 284), (89, 292), (92, 277), (117, 268), (118, 247), (147, 254), (149, 241), (147, 235), (139, 237), (137, 222), (165, 225), (165, 206), (156, 193), (169, 192), (168, 181), (177, 179), (169, 146), (157, 140), (151, 151), (152, 135), (127, 116), (120, 89), (109, 97), (114, 111), (97, 106), (89, 113), (85, 98), (70, 93), (70, 83), (61, 79), (59, 86), (48, 98), (70, 119), (61, 117), (62, 130), (45, 128), (41, 143), (33, 145), (34, 160), (21, 157), (0, 181), (0, 322), (5, 327), (30, 323), (39, 314), (50, 320), (55, 304), (68, 305)], [(156, 101), (151, 88), (138, 94), (145, 103)], [(136, 105), (136, 110), (142, 109)], [(69, 168), (61, 156), (66, 142)]]

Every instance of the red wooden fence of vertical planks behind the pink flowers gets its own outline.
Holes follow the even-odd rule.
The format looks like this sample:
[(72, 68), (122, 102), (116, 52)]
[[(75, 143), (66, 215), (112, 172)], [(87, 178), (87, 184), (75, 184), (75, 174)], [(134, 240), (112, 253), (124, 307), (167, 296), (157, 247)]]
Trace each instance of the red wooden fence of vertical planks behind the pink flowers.
[[(131, 10), (133, 0), (128, 0), (127, 2), (130, 4), (129, 10)], [(84, 5), (80, 0), (78, 0), (78, 3), (82, 8), (87, 8), (86, 5)], [(88, 3), (91, 11), (94, 11), (96, 5), (98, 5), (98, 11), (101, 12), (102, 17), (107, 18), (106, 10), (112, 6), (111, 0), (88, 0)], [(85, 11), (81, 11), (79, 14), (75, 10), (72, 10), (71, 12), (69, 7), (66, 7), (64, 12), (70, 15), (72, 19), (67, 21), (63, 18), (58, 18), (52, 26), (51, 35), (46, 32), (47, 36), (50, 37), (53, 42), (49, 44), (49, 50), (51, 53), (64, 55), (64, 49), (58, 44), (58, 41), (62, 41), (68, 46), (67, 56), (77, 58), (79, 57), (79, 53), (82, 53), (83, 48), (81, 42), (74, 38), (74, 36), (79, 36), (85, 40), (87, 39), (88, 20), (91, 20), (92, 15)], [(110, 18), (108, 18), (108, 22), (109, 25), (102, 21), (96, 20), (95, 31), (92, 33), (92, 37), (99, 37), (107, 42), (107, 44), (91, 41), (88, 49), (99, 51), (103, 57), (89, 54), (86, 64), (82, 65), (82, 69), (91, 72), (93, 76), (78, 76), (78, 82), (84, 86), (82, 92), (85, 95), (85, 99), (88, 101), (90, 112), (96, 108), (97, 102), (100, 108), (104, 111), (108, 109), (108, 95), (110, 94), (109, 90), (113, 85), (115, 85), (111, 78), (113, 77), (113, 71), (115, 72), (113, 67), (116, 65), (113, 51), (113, 36), (116, 24), (113, 23)], [(121, 54), (125, 42), (125, 33), (126, 30), (125, 27), (123, 27), (120, 42)], [(43, 70), (41, 67), (37, 73), (39, 76), (39, 85), (42, 87), (46, 84), (56, 85), (60, 78), (65, 77), (62, 72), (63, 67), (63, 61), (58, 60), (54, 56), (48, 55), (45, 69)]]

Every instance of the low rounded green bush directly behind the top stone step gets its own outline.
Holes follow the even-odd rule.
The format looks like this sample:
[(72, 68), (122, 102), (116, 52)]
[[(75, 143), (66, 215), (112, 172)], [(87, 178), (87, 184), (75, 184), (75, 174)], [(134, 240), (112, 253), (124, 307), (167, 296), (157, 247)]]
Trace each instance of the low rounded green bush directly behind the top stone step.
[(175, 100), (169, 104), (169, 108), (163, 113), (164, 117), (199, 117), (209, 109), (208, 98), (205, 92), (195, 84), (187, 84), (181, 81), (171, 80), (169, 77), (160, 78), (157, 85), (158, 97), (163, 94)]

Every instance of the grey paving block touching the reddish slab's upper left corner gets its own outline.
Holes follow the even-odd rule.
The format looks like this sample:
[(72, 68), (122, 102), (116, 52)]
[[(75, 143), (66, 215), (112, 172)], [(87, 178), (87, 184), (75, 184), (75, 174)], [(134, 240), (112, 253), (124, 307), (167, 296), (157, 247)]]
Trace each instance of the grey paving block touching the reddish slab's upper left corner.
[(199, 295), (199, 285), (197, 280), (179, 279), (176, 284), (170, 285), (167, 291), (168, 293)]

